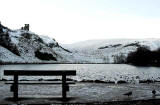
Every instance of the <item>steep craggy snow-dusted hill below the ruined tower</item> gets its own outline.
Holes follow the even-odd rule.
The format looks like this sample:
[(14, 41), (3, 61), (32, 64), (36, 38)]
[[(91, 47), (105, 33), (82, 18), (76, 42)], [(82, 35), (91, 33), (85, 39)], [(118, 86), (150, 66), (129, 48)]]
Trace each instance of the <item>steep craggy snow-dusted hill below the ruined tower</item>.
[(55, 39), (27, 30), (11, 30), (0, 24), (0, 63), (67, 62), (60, 51), (70, 53)]

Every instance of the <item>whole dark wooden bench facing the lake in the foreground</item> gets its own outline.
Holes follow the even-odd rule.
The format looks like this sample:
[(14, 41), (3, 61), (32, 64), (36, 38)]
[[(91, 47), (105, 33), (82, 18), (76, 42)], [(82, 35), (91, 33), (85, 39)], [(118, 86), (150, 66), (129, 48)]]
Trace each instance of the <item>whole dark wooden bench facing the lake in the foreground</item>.
[[(73, 81), (66, 81), (66, 76), (76, 76), (76, 70), (4, 70), (4, 75), (13, 76), (13, 82), (7, 82), (6, 84), (12, 84), (10, 91), (13, 92), (13, 97), (18, 100), (18, 85), (34, 85), (34, 84), (62, 84), (62, 98), (66, 99), (66, 92), (69, 91), (69, 84), (74, 84)], [(61, 82), (22, 82), (18, 81), (19, 76), (62, 76)]]

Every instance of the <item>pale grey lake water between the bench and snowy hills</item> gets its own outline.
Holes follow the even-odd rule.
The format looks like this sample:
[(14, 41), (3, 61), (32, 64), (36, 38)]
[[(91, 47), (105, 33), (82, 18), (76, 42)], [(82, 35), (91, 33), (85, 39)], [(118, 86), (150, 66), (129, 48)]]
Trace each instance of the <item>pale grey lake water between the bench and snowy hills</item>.
[[(76, 81), (104, 81), (139, 83), (140, 81), (160, 81), (159, 67), (136, 67), (126, 64), (27, 64), (0, 65), (0, 78), (4, 77), (3, 70), (76, 70), (77, 76), (70, 77)], [(23, 79), (55, 79), (61, 77), (21, 77)]]

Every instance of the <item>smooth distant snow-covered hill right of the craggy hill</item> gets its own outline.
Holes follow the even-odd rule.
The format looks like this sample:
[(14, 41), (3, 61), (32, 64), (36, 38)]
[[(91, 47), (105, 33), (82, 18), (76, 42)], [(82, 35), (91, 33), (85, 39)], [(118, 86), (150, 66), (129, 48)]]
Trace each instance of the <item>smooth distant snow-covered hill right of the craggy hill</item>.
[(77, 63), (123, 63), (138, 47), (157, 50), (160, 39), (87, 40), (62, 46), (72, 51)]

